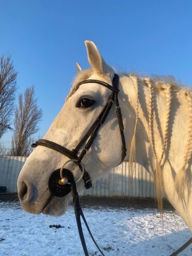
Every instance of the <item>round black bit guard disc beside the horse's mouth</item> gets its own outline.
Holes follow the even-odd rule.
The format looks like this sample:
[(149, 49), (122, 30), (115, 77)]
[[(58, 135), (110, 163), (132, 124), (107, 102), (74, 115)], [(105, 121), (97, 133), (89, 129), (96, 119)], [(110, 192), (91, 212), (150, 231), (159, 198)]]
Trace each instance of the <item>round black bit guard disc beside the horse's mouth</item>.
[[(63, 169), (63, 177), (67, 178), (69, 181), (74, 180), (72, 172), (68, 169)], [(57, 169), (53, 171), (49, 178), (49, 189), (51, 191), (51, 194), (58, 197), (66, 196), (68, 193), (71, 192), (71, 185), (60, 185), (58, 183), (59, 180), (61, 180), (60, 169)]]

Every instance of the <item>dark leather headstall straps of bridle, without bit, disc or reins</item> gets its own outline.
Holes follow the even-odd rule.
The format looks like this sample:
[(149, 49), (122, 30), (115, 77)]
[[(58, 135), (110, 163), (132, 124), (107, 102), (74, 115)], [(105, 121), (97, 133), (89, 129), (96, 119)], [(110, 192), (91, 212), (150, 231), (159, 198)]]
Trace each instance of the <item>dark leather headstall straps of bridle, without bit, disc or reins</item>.
[[(88, 84), (88, 83), (96, 83), (96, 84), (105, 86), (106, 88), (111, 90), (112, 93), (111, 93), (111, 95), (109, 95), (108, 100), (107, 100), (103, 110), (101, 111), (100, 115), (95, 120), (95, 122), (92, 124), (92, 126), (89, 128), (89, 130), (87, 131), (85, 136), (77, 144), (75, 149), (73, 149), (71, 151), (71, 150), (66, 149), (66, 147), (64, 147), (64, 146), (61, 146), (57, 143), (54, 143), (54, 142), (48, 141), (48, 140), (44, 140), (44, 139), (36, 141), (36, 143), (33, 143), (32, 146), (33, 147), (36, 147), (38, 145), (46, 146), (46, 147), (49, 147), (49, 149), (55, 150), (65, 156), (67, 156), (70, 159), (76, 159), (77, 160), (76, 164), (81, 169), (80, 162), (83, 159), (83, 157), (85, 156), (85, 154), (87, 153), (87, 151), (90, 149), (95, 137), (97, 136), (97, 133), (98, 133), (101, 125), (105, 122), (105, 119), (108, 116), (109, 111), (112, 109), (113, 102), (115, 101), (116, 114), (117, 114), (119, 130), (120, 130), (120, 135), (121, 135), (121, 141), (122, 141), (122, 156), (121, 156), (121, 162), (120, 162), (120, 163), (122, 163), (122, 161), (124, 160), (124, 158), (126, 156), (127, 149), (126, 149), (126, 141), (125, 141), (125, 136), (124, 136), (124, 124), (122, 122), (122, 115), (121, 115), (121, 110), (120, 110), (119, 101), (118, 101), (119, 76), (117, 74), (114, 74), (112, 86), (103, 81), (100, 81), (100, 80), (88, 79), (88, 80), (84, 80), (84, 81), (80, 82), (79, 84), (77, 84), (76, 87), (78, 89), (80, 85)], [(84, 144), (85, 144), (84, 149), (81, 150), (79, 156), (77, 156), (77, 153), (78, 153), (80, 147), (83, 146)], [(91, 179), (90, 179), (88, 172), (85, 171), (83, 179), (84, 179), (86, 188), (92, 187)]]

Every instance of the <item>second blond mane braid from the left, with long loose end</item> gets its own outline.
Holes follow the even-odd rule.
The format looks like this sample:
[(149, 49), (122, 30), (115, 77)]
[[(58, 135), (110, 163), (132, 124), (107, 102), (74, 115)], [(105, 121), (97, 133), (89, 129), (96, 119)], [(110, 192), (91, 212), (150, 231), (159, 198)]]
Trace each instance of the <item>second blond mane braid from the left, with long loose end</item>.
[(155, 92), (154, 92), (154, 85), (150, 82), (149, 78), (144, 78), (144, 82), (146, 83), (149, 89), (149, 136), (150, 141), (152, 144), (152, 150), (155, 156), (155, 172), (154, 172), (154, 181), (155, 181), (155, 190), (156, 190), (156, 197), (157, 197), (157, 205), (158, 209), (161, 213), (161, 218), (163, 221), (162, 216), (162, 171), (157, 159), (157, 153), (155, 150), (155, 139), (154, 139), (154, 100), (155, 100)]

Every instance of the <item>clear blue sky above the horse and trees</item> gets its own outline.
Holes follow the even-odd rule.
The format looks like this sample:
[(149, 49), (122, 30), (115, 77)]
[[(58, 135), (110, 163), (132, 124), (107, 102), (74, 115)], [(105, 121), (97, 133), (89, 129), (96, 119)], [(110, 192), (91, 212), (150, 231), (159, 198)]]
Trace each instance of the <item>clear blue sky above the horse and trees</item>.
[[(0, 55), (12, 55), (18, 93), (35, 85), (40, 136), (60, 111), (92, 40), (119, 71), (173, 75), (192, 86), (190, 0), (0, 0)], [(2, 139), (11, 141), (7, 133)]]

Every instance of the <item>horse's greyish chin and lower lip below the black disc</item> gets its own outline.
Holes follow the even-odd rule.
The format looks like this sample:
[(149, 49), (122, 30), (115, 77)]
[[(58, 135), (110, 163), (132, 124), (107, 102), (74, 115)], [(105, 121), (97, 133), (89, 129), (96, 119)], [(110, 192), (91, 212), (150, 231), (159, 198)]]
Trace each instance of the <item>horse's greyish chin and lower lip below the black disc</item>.
[(66, 212), (68, 206), (68, 198), (64, 197), (56, 197), (50, 196), (46, 205), (44, 206), (42, 213), (46, 215), (51, 215), (54, 217), (58, 217), (63, 215)]

